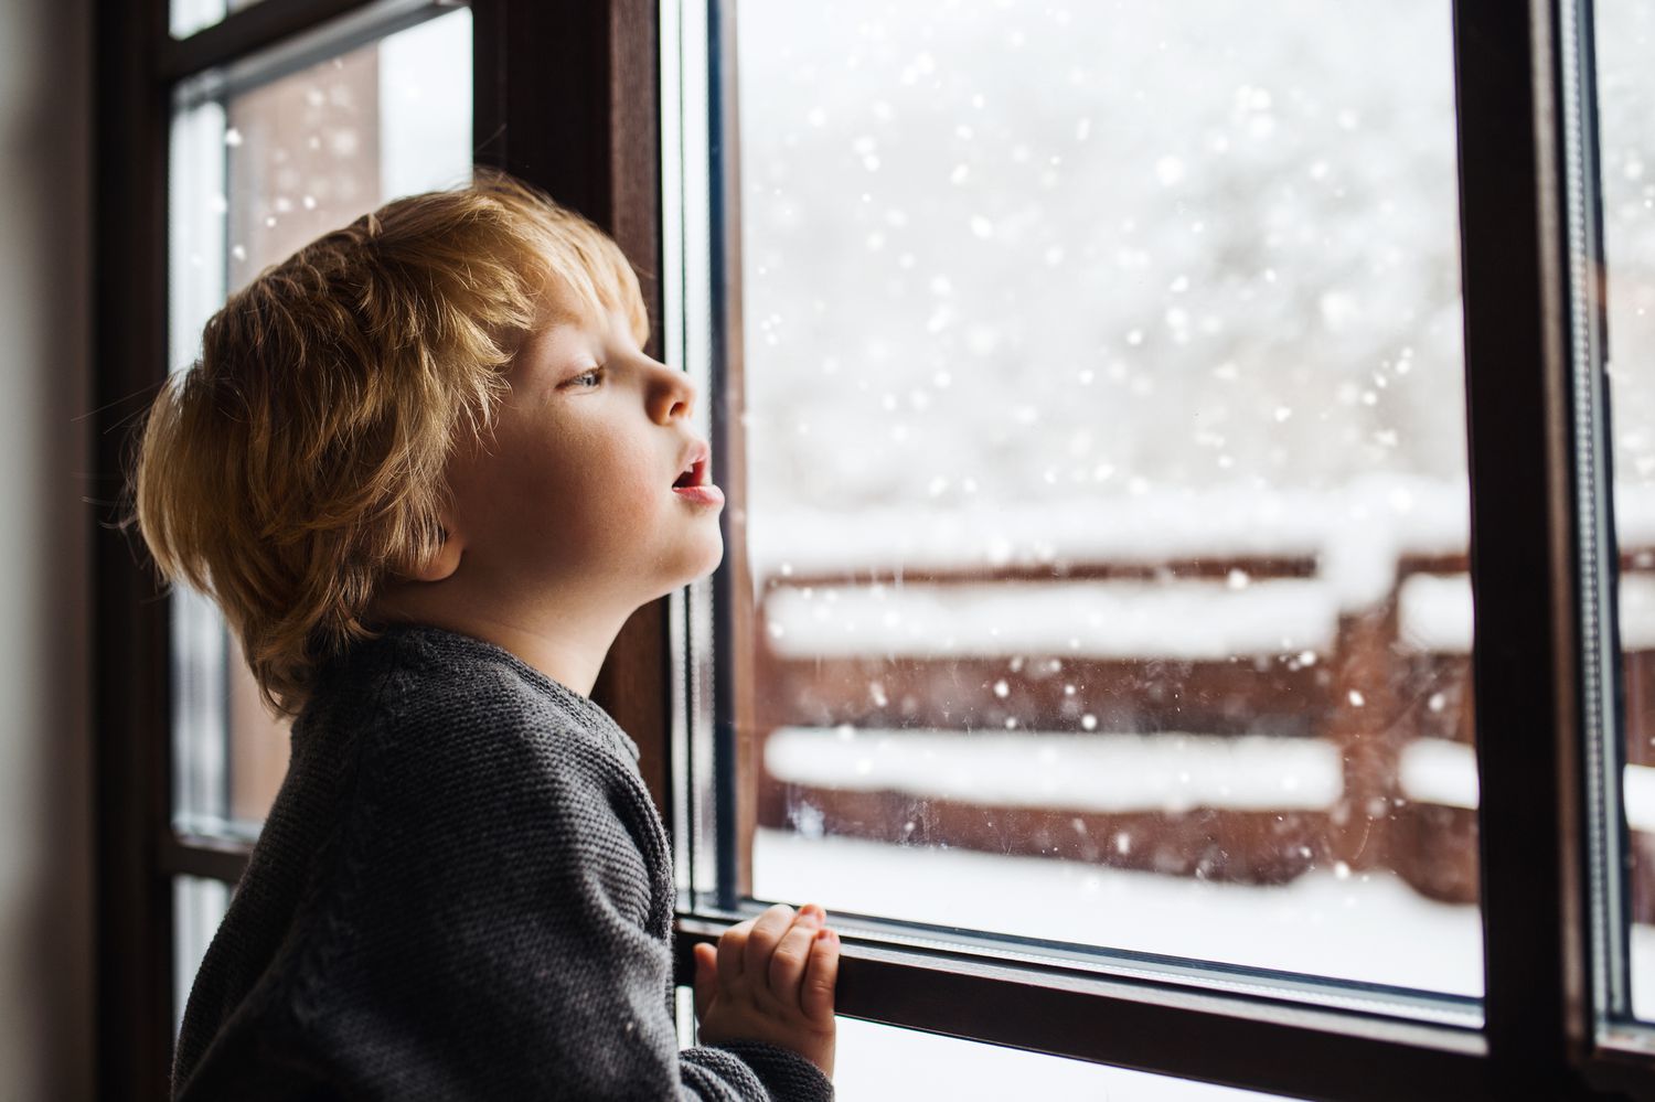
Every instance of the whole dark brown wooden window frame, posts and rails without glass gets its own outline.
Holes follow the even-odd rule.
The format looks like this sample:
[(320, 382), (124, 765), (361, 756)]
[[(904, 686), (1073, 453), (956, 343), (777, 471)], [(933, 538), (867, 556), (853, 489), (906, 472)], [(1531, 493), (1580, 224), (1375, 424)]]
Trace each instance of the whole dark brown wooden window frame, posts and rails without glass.
[[(708, 0), (715, 98), (733, 108), (733, 0)], [(1655, 1066), (1599, 1039), (1579, 796), (1589, 647), (1579, 629), (1562, 0), (1460, 0), (1455, 69), (1471, 579), (1478, 611), (1485, 1028), (1235, 994), (1122, 971), (1021, 965), (846, 937), (839, 1009), (854, 1018), (1256, 1090), (1331, 1099), (1655, 1097)], [(1589, 0), (1582, 0), (1589, 5)], [(442, 10), (444, 3), (432, 3)], [(477, 157), (544, 187), (621, 242), (644, 273), (660, 354), (662, 169), (655, 0), (473, 0)], [(722, 17), (720, 17), (722, 7)], [(422, 18), (366, 0), (263, 0), (184, 41), (166, 0), (101, 5), (96, 50), (94, 733), (101, 1095), (166, 1095), (174, 875), (235, 882), (245, 846), (170, 826), (169, 602), (136, 541), (109, 529), (132, 419), (167, 356), (167, 134), (172, 86), (339, 17), (366, 41)], [(338, 41), (334, 43), (338, 48)], [(546, 104), (558, 104), (548, 111)], [(727, 136), (733, 134), (733, 116)], [(1590, 144), (1590, 142), (1589, 142)], [(715, 275), (738, 288), (735, 149), (715, 144)], [(723, 296), (715, 372), (740, 384), (738, 295)], [(1590, 323), (1589, 323), (1590, 324)], [(713, 409), (720, 409), (720, 402)], [(715, 445), (733, 455), (715, 412)], [(730, 518), (725, 520), (730, 525)], [(732, 531), (727, 528), (727, 536)], [(740, 533), (736, 533), (740, 534)], [(727, 539), (727, 546), (738, 541)], [(718, 592), (738, 561), (727, 561)], [(735, 630), (741, 617), (723, 620)], [(636, 736), (667, 822), (667, 602), (617, 639), (594, 698)], [(720, 712), (748, 692), (722, 672)], [(1498, 735), (1498, 738), (1496, 738)], [(727, 745), (733, 753), (733, 745)], [(736, 824), (733, 829), (738, 829)], [(728, 844), (727, 844), (728, 849)], [(741, 895), (745, 870), (733, 895)], [(738, 898), (722, 900), (738, 903)], [(730, 908), (679, 917), (677, 958)]]

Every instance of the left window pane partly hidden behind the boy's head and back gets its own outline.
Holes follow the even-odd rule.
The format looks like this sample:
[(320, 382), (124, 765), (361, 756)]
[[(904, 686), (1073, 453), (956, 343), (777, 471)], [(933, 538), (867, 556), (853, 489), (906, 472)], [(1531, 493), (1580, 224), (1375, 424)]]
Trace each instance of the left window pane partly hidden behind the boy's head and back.
[[(472, 17), (465, 8), (227, 99), (180, 89), (172, 124), (170, 367), (265, 266), (396, 195), (472, 170)], [(174, 812), (257, 834), (288, 764), (217, 609), (174, 614)]]

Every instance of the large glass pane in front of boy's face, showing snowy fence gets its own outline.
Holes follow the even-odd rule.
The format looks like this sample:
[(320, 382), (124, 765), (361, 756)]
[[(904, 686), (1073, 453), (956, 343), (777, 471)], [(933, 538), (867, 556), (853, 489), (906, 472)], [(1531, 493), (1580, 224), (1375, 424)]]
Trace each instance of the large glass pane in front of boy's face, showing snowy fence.
[(736, 41), (753, 895), (1481, 994), (1448, 5)]

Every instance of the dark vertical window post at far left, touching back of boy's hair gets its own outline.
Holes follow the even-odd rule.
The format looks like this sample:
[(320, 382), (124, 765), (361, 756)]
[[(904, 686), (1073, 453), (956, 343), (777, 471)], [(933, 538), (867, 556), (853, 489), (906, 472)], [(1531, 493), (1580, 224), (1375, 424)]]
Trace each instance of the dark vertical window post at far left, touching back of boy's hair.
[(166, 26), (162, 0), (99, 7), (93, 69), (104, 161), (93, 213), (94, 1044), (101, 1092), (129, 1099), (166, 1097), (170, 1064), (172, 892), (151, 846), (169, 811), (169, 632), (136, 539), (106, 523), (121, 513), (129, 422), (167, 356), (167, 96), (154, 48)]

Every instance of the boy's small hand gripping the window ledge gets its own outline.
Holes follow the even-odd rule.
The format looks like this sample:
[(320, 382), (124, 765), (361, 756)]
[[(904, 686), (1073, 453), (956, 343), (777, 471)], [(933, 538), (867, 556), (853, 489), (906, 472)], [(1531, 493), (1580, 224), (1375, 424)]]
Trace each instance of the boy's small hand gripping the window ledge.
[(839, 935), (816, 903), (794, 915), (776, 903), (723, 932), (718, 948), (695, 946), (700, 1041), (768, 1041), (793, 1049), (832, 1077), (834, 981)]

